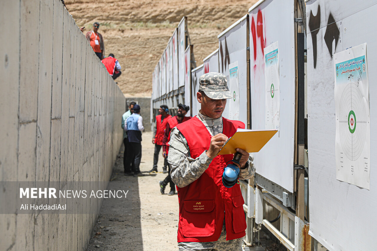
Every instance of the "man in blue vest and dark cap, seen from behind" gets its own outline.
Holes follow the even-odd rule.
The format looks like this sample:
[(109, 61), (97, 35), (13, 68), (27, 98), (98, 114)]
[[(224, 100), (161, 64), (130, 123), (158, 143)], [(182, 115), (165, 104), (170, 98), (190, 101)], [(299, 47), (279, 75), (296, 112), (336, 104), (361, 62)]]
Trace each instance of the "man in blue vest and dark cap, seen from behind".
[[(143, 117), (139, 115), (140, 106), (135, 104), (133, 106), (133, 114), (129, 116), (124, 123), (124, 131), (127, 132), (128, 145), (127, 145), (127, 157), (125, 174), (132, 175), (134, 177), (143, 176), (140, 172), (141, 161), (141, 132), (144, 131)], [(134, 162), (135, 166), (131, 168), (131, 162)]]

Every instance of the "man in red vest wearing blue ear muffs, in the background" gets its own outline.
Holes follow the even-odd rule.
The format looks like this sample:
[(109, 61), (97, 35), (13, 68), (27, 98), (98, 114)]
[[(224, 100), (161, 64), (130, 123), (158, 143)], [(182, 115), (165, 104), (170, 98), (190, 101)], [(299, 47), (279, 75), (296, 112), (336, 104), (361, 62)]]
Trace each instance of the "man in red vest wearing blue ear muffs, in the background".
[[(159, 115), (156, 116), (156, 123), (153, 130), (152, 143), (155, 144), (155, 154), (153, 156), (153, 167), (148, 173), (157, 172), (158, 155), (162, 147), (162, 139), (166, 129), (167, 121), (172, 117), (169, 114), (169, 108), (166, 105), (160, 106), (158, 110)], [(164, 159), (164, 167), (162, 167), (163, 173), (167, 173), (167, 160)]]

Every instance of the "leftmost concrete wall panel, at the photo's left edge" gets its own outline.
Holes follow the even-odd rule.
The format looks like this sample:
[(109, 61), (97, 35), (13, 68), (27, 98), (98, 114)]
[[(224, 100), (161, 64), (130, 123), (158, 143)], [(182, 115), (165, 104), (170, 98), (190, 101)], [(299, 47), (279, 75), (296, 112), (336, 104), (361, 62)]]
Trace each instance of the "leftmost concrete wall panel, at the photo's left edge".
[[(9, 15), (11, 14), (11, 15)], [(17, 150), (18, 150), (18, 108), (19, 108), (19, 64), (20, 50), (14, 46), (20, 43), (20, 2), (1, 1), (0, 21), (6, 26), (3, 28), (4, 34), (13, 34), (2, 40), (2, 50), (0, 58), (0, 74), (2, 83), (0, 85), (0, 181), (14, 181), (17, 177)], [(16, 32), (15, 32), (16, 31)], [(15, 194), (14, 191), (7, 190), (4, 185), (0, 189), (0, 206), (5, 203), (5, 196)], [(15, 202), (15, 201), (14, 201)], [(1, 245), (5, 250), (16, 250), (16, 215), (0, 215)]]

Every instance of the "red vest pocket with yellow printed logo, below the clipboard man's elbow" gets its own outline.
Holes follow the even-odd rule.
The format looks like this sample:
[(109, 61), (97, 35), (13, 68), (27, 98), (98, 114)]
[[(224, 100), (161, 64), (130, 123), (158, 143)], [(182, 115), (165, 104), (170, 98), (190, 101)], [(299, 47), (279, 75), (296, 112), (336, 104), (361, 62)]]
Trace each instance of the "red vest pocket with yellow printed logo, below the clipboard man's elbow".
[(182, 214), (185, 237), (207, 237), (215, 233), (215, 201), (186, 200)]

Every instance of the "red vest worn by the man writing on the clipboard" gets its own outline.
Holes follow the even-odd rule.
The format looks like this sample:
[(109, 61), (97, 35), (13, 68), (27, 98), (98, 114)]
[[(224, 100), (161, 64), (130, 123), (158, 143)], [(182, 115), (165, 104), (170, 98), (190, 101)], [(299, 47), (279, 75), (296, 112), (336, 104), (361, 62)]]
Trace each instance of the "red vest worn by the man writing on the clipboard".
[[(237, 128), (245, 128), (241, 121), (223, 118), (223, 132), (232, 136)], [(194, 117), (177, 125), (190, 149), (190, 157), (196, 159), (209, 148), (211, 135), (204, 124)], [(233, 155), (216, 156), (208, 169), (194, 182), (178, 188), (179, 224), (178, 242), (213, 242), (221, 235), (225, 217), (227, 240), (245, 236), (246, 221), (244, 198), (238, 184), (231, 188), (222, 185), (225, 164)]]

